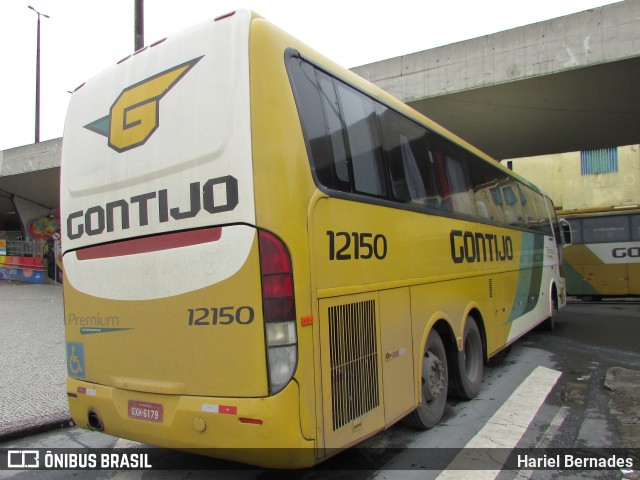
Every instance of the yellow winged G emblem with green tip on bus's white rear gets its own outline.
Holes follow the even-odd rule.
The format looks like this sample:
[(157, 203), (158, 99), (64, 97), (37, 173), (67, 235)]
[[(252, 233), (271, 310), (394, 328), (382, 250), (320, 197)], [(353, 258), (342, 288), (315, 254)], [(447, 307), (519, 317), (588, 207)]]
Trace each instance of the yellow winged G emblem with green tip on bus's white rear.
[(160, 99), (201, 58), (172, 67), (125, 88), (111, 105), (109, 115), (85, 125), (85, 128), (107, 137), (109, 147), (116, 152), (125, 152), (143, 145), (160, 126)]

